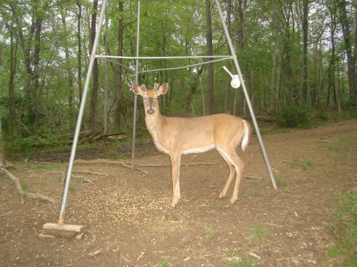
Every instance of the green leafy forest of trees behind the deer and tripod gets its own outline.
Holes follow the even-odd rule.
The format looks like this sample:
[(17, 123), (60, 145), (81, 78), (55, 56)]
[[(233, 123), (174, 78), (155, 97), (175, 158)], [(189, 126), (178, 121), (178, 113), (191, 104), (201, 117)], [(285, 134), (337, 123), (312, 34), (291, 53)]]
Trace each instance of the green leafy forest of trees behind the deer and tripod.
[[(283, 126), (296, 126), (312, 110), (321, 117), (326, 110), (356, 112), (356, 1), (220, 2), (256, 115), (268, 112)], [(10, 154), (73, 136), (101, 4), (1, 1), (0, 122)], [(97, 54), (135, 56), (137, 8), (138, 1), (109, 1)], [(141, 1), (140, 56), (228, 53), (212, 0)], [(140, 70), (202, 61), (145, 60)], [(235, 72), (232, 62), (220, 61), (141, 73), (139, 83), (169, 83), (160, 103), (164, 115), (248, 117), (243, 93), (231, 88), (223, 66)], [(82, 130), (130, 132), (134, 79), (134, 60), (96, 60)], [(143, 122), (140, 106), (138, 112)]]

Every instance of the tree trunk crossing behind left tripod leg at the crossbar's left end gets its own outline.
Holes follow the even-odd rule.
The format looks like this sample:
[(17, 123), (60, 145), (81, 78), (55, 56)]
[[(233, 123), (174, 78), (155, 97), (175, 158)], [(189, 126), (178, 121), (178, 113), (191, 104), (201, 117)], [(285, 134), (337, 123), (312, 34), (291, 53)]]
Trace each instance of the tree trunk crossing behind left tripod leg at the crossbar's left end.
[[(96, 13), (98, 10), (98, 0), (93, 1), (93, 13), (91, 16), (91, 46), (90, 50), (94, 48), (94, 38), (96, 37)], [(99, 66), (98, 60), (94, 61), (93, 66), (93, 85), (91, 90), (91, 106), (89, 109), (89, 129), (94, 130), (96, 127), (96, 105), (98, 99), (98, 86), (99, 86)]]

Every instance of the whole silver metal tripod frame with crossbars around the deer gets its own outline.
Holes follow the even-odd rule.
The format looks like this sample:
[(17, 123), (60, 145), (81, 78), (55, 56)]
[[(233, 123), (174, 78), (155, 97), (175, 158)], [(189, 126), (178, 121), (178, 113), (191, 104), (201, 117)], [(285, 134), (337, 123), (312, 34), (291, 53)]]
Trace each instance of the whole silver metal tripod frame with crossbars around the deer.
[[(74, 167), (74, 158), (76, 156), (76, 148), (78, 145), (78, 140), (79, 140), (79, 132), (81, 130), (81, 122), (83, 119), (83, 115), (84, 115), (84, 108), (86, 105), (86, 97), (89, 91), (89, 83), (91, 80), (91, 74), (92, 74), (92, 70), (93, 70), (93, 66), (94, 66), (94, 61), (96, 58), (123, 58), (123, 59), (135, 59), (136, 61), (136, 68), (135, 68), (135, 83), (139, 83), (139, 73), (144, 73), (144, 72), (150, 72), (150, 71), (159, 71), (159, 70), (163, 70), (163, 69), (159, 69), (159, 70), (143, 70), (140, 71), (139, 70), (139, 60), (141, 59), (172, 59), (172, 58), (216, 58), (216, 59), (211, 59), (211, 61), (206, 61), (204, 63), (199, 63), (199, 64), (195, 64), (195, 65), (191, 65), (191, 66), (198, 66), (201, 64), (206, 64), (206, 63), (211, 63), (211, 62), (216, 62), (216, 61), (223, 61), (226, 59), (233, 59), (233, 62), (236, 66), (236, 70), (238, 73), (238, 77), (241, 80), (241, 86), (243, 89), (243, 93), (244, 93), (244, 97), (246, 98), (246, 103), (248, 105), (248, 110), (251, 114), (251, 119), (253, 120), (253, 125), (256, 129), (256, 135), (258, 136), (258, 141), (261, 145), (261, 151), (263, 153), (263, 157), (264, 160), (266, 162), (266, 168), (268, 169), (268, 173), (269, 176), (271, 177), (271, 182), (273, 184), (273, 188), (276, 189), (276, 182), (275, 182), (275, 178), (273, 175), (273, 172), (271, 170), (271, 165), (268, 159), (268, 155), (266, 154), (266, 149), (264, 147), (263, 144), (263, 140), (261, 138), (261, 133), (259, 131), (258, 128), (258, 123), (256, 122), (256, 116), (254, 115), (253, 112), (253, 108), (251, 105), (251, 101), (249, 100), (249, 95), (248, 92), (246, 90), (246, 85), (244, 83), (243, 80), (243, 75), (241, 73), (241, 68), (238, 65), (238, 60), (236, 57), (236, 52), (234, 51), (233, 48), (233, 44), (231, 41), (231, 36), (229, 36), (228, 33), (228, 28), (226, 26), (226, 21), (224, 20), (223, 17), (223, 12), (221, 10), (221, 5), (219, 4), (219, 0), (214, 0), (216, 2), (216, 7), (218, 10), (218, 14), (221, 18), (221, 22), (222, 22), (222, 26), (224, 29), (224, 33), (226, 35), (226, 39), (228, 41), (228, 46), (229, 46), (229, 50), (231, 52), (231, 56), (168, 56), (168, 57), (141, 57), (139, 56), (139, 45), (140, 45), (140, 10), (141, 10), (141, 1), (138, 0), (138, 21), (137, 21), (137, 32), (136, 32), (136, 56), (134, 57), (129, 57), (129, 56), (99, 56), (96, 55), (96, 51), (98, 48), (98, 43), (99, 43), (99, 36), (101, 35), (101, 28), (103, 25), (103, 21), (104, 21), (104, 14), (106, 13), (106, 6), (108, 4), (108, 0), (103, 0), (103, 4), (101, 6), (101, 13), (99, 16), (99, 23), (98, 23), (98, 28), (96, 31), (96, 37), (94, 39), (94, 45), (91, 51), (91, 58), (89, 61), (89, 67), (88, 67), (88, 72), (86, 74), (86, 83), (84, 84), (84, 90), (83, 90), (83, 95), (82, 95), (82, 99), (81, 99), (81, 106), (79, 108), (79, 115), (78, 115), (78, 120), (77, 120), (77, 124), (76, 124), (76, 130), (74, 132), (74, 140), (73, 140), (73, 144), (72, 144), (72, 149), (71, 149), (71, 156), (69, 158), (69, 167), (67, 169), (67, 173), (66, 173), (66, 182), (64, 184), (64, 194), (62, 197), (62, 203), (61, 203), (61, 210), (59, 212), (59, 224), (64, 224), (64, 212), (66, 210), (66, 202), (67, 202), (67, 197), (68, 197), (68, 192), (69, 192), (69, 184), (71, 182), (71, 175), (73, 172), (73, 167)], [(187, 68), (188, 66), (183, 66), (183, 67), (178, 67), (178, 68)], [(166, 68), (165, 70), (169, 70), (169, 69), (177, 69), (177, 68)], [(132, 139), (132, 156), (131, 156), (131, 167), (134, 168), (134, 159), (135, 159), (135, 137), (136, 137), (136, 110), (137, 110), (137, 95), (134, 95), (134, 121), (133, 121), (133, 139)]]

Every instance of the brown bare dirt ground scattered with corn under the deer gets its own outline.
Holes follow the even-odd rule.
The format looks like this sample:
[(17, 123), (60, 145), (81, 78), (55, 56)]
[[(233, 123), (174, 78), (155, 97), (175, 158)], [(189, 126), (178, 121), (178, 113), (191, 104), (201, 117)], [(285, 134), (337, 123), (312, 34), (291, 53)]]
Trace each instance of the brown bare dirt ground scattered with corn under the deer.
[[(235, 204), (231, 188), (218, 199), (229, 169), (215, 150), (183, 156), (174, 209), (169, 157), (151, 143), (139, 147), (135, 171), (114, 160), (76, 162), (65, 223), (83, 224), (81, 239), (39, 237), (45, 223), (58, 221), (67, 163), (55, 152), (47, 155), (57, 162), (17, 162), (9, 170), (27, 191), (56, 203), (22, 205), (0, 174), (0, 266), (226, 266), (237, 258), (258, 266), (338, 266), (327, 254), (338, 238), (328, 213), (338, 196), (356, 189), (357, 120), (263, 141), (278, 190), (253, 136), (246, 152), (238, 149), (246, 169)], [(252, 229), (266, 233), (255, 240)]]

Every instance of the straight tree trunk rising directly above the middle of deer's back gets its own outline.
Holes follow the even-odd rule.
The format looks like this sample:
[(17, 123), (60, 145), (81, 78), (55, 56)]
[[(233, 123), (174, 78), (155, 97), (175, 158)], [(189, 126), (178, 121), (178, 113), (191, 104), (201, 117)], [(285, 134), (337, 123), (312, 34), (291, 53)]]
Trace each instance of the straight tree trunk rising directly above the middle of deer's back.
[[(207, 56), (213, 56), (211, 0), (206, 0), (206, 47)], [(211, 61), (212, 58), (208, 58)], [(213, 114), (213, 63), (207, 64), (207, 114)]]

